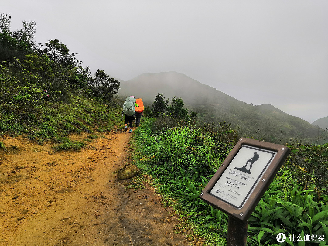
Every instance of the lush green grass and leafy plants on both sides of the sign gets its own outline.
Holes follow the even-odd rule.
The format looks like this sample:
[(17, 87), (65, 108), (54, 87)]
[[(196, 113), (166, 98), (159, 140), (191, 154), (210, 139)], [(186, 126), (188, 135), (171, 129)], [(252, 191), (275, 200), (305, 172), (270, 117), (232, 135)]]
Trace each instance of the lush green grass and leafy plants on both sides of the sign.
[[(147, 119), (135, 131), (144, 155), (138, 163), (157, 178), (161, 183), (160, 190), (172, 196), (183, 208), (185, 212), (181, 217), (206, 230), (208, 242), (225, 237), (228, 215), (198, 196), (230, 153), (236, 138), (229, 129), (209, 126), (178, 124), (156, 132), (155, 122), (154, 118)], [(279, 233), (287, 236), (286, 241), (279, 245), (327, 244), (325, 185), (328, 177), (324, 176), (328, 164), (327, 146), (289, 147), (291, 155), (249, 218), (248, 245), (278, 245), (276, 237)], [(316, 241), (314, 235), (318, 236)], [(302, 237), (303, 242), (297, 237)], [(211, 245), (218, 245), (218, 241)]]

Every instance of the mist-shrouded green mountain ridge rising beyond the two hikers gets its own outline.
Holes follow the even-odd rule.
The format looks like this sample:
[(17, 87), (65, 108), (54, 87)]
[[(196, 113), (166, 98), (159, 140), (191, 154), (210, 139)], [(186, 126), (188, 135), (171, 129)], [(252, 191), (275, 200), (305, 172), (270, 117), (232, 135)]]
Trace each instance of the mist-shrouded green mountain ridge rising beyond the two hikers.
[(254, 136), (270, 142), (288, 141), (290, 138), (314, 142), (322, 133), (315, 125), (270, 104), (254, 106), (244, 103), (178, 72), (143, 73), (121, 81), (120, 88), (119, 95), (123, 98), (130, 95), (141, 97), (150, 107), (158, 93), (170, 100), (173, 96), (181, 97), (189, 113), (198, 114), (198, 120), (225, 121), (239, 128), (242, 136)]

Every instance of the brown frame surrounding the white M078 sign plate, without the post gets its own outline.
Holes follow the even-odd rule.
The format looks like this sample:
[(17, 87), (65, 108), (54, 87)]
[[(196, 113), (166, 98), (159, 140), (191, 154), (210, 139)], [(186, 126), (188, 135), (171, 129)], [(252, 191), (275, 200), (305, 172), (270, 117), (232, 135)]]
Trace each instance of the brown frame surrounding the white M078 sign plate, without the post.
[[(247, 194), (246, 198), (241, 203), (241, 206), (236, 206), (233, 203), (216, 197), (215, 195), (211, 194), (211, 191), (224, 173), (224, 171), (226, 171), (231, 162), (234, 160), (234, 158), (238, 154), (238, 151), (243, 147), (250, 147), (255, 151), (259, 150), (268, 153), (274, 152), (275, 154), (273, 155), (273, 158), (271, 158), (270, 161), (266, 163), (266, 166), (265, 168), (263, 168), (263, 171), (260, 173), (260, 175), (258, 175), (256, 182), (250, 189), (250, 192)], [(246, 222), (251, 216), (259, 200), (262, 198), (263, 194), (269, 187), (270, 183), (272, 182), (273, 178), (277, 174), (279, 168), (282, 166), (289, 153), (289, 148), (283, 145), (263, 142), (249, 138), (241, 138), (235, 145), (235, 147), (232, 149), (232, 151), (229, 153), (227, 158), (225, 158), (222, 165), (213, 175), (213, 177), (208, 182), (199, 197), (205, 202), (226, 212), (227, 214)], [(256, 153), (254, 154), (256, 155)]]

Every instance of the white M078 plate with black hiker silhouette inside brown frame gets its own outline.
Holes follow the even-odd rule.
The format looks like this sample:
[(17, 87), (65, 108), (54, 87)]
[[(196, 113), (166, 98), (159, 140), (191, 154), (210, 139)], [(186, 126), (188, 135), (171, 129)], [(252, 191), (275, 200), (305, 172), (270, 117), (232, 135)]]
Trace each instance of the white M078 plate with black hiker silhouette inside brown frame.
[(277, 152), (242, 146), (210, 194), (240, 208), (275, 154)]

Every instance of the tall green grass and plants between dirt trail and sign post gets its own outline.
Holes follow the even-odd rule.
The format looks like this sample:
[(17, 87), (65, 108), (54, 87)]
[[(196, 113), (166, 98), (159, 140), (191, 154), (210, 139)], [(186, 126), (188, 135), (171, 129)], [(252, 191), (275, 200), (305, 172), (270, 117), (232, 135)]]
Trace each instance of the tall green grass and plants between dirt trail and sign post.
[[(233, 147), (204, 128), (178, 125), (156, 133), (154, 118), (135, 131), (142, 153), (151, 158), (147, 169), (162, 184), (162, 192), (172, 195), (190, 221), (213, 237), (227, 233), (228, 216), (198, 198)], [(152, 158), (153, 157), (153, 158)], [(213, 238), (212, 238), (213, 239)], [(215, 239), (215, 240), (220, 240)]]

